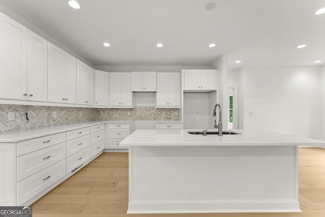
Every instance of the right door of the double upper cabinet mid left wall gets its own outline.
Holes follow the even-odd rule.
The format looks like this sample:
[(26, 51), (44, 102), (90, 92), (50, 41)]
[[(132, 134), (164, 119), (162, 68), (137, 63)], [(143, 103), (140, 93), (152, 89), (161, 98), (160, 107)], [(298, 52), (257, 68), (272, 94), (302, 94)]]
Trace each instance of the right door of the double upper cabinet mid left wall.
[(63, 54), (63, 90), (65, 103), (76, 104), (76, 79), (77, 79), (77, 65), (76, 57), (64, 52)]

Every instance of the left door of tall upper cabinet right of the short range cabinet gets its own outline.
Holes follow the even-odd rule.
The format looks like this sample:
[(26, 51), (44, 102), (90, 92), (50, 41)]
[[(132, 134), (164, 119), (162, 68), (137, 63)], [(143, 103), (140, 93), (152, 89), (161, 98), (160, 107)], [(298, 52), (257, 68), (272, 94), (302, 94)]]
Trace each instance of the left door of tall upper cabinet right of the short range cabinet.
[(157, 94), (156, 94), (156, 106), (168, 106), (168, 82), (169, 73), (158, 72), (157, 73)]

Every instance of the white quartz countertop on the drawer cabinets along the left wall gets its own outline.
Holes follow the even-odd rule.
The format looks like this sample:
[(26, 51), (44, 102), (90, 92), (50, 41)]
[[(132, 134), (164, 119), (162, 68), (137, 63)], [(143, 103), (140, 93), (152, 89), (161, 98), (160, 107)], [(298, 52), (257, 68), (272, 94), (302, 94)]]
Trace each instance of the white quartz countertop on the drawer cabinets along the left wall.
[(34, 139), (41, 136), (47, 136), (56, 133), (77, 130), (80, 128), (91, 127), (94, 125), (100, 125), (101, 123), (129, 123), (129, 122), (132, 121), (89, 121), (89, 122), (74, 123), (72, 125), (62, 125), (62, 126), (39, 128), (33, 130), (17, 131), (12, 133), (3, 133), (0, 134), (0, 142), (19, 142), (28, 139)]

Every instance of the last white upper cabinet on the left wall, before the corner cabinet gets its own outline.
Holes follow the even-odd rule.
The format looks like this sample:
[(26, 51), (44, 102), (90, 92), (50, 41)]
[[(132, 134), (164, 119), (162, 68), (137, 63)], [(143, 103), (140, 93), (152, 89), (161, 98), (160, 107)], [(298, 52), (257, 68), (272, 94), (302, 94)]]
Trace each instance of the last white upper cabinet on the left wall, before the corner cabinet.
[(77, 59), (77, 104), (93, 105), (94, 70)]

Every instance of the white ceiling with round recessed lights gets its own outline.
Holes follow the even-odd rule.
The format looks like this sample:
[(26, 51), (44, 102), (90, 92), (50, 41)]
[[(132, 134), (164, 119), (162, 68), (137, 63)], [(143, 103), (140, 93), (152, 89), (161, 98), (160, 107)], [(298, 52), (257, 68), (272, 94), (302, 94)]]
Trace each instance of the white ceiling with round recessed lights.
[[(94, 66), (325, 63), (324, 0), (0, 0)], [(212, 11), (205, 6), (216, 3)], [(111, 47), (104, 47), (109, 42)], [(164, 47), (157, 48), (157, 43)], [(209, 48), (210, 43), (216, 43)], [(297, 49), (300, 44), (307, 47)], [(314, 64), (314, 60), (322, 60)]]

